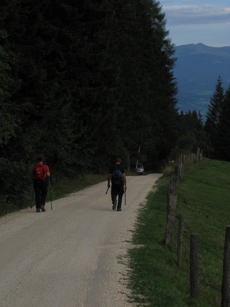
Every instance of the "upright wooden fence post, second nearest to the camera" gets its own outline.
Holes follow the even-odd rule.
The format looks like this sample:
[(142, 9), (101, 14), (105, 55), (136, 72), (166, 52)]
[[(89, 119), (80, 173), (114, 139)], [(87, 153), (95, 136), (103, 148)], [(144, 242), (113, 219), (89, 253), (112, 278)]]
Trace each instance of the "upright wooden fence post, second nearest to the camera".
[(198, 270), (198, 234), (190, 235), (190, 291), (191, 297), (199, 299), (199, 270)]

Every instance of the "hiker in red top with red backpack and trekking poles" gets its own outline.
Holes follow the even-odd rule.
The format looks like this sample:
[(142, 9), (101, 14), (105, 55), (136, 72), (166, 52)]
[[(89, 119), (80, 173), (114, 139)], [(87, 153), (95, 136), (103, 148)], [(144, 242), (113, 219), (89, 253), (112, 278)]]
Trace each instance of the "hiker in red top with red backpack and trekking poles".
[(47, 198), (48, 180), (50, 169), (44, 164), (44, 157), (38, 156), (38, 163), (32, 168), (32, 179), (35, 192), (36, 212), (45, 211), (45, 199)]

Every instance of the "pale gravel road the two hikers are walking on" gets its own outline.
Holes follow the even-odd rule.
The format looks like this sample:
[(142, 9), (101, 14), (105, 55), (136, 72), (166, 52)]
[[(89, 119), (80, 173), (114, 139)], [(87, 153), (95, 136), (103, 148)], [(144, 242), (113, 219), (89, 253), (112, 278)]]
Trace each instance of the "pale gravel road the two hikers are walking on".
[(140, 204), (161, 174), (127, 177), (113, 211), (107, 182), (0, 219), (1, 307), (132, 307), (125, 257)]

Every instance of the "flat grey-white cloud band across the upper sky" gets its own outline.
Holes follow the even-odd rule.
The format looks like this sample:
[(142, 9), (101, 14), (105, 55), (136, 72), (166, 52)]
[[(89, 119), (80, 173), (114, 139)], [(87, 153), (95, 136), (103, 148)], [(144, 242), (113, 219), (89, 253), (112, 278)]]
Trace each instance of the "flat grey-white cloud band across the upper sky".
[(224, 24), (230, 21), (229, 6), (167, 6), (167, 25)]

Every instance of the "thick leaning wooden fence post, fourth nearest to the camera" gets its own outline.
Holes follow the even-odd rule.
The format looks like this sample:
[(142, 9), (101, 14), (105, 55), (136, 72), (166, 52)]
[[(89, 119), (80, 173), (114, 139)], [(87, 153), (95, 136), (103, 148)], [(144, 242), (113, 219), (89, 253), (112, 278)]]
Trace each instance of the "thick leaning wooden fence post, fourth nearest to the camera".
[(177, 196), (173, 195), (173, 193), (169, 194), (169, 208), (167, 216), (165, 245), (170, 248), (172, 247), (172, 240), (173, 240), (173, 229), (174, 229), (175, 212), (176, 212), (176, 198)]

